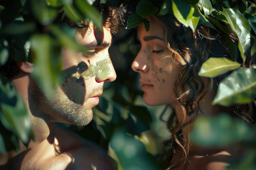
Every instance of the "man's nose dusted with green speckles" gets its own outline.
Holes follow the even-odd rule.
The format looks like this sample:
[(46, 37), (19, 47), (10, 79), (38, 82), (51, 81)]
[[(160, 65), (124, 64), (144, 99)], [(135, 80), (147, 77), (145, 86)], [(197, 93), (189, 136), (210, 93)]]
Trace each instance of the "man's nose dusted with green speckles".
[(110, 57), (99, 63), (98, 73), (96, 73), (97, 82), (113, 82), (117, 78), (115, 68)]

